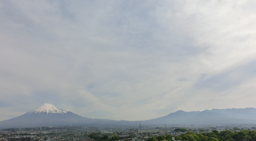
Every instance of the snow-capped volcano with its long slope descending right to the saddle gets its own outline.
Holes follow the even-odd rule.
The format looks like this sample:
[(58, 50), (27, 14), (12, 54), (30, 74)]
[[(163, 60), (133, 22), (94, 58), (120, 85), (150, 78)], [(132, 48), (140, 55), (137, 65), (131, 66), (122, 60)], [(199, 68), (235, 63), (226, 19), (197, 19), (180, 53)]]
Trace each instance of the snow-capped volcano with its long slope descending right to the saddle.
[(71, 111), (65, 111), (52, 104), (45, 103), (32, 111), (0, 122), (2, 128), (29, 128), (29, 127), (60, 127), (60, 126), (123, 126), (129, 121), (115, 121), (91, 119), (82, 117)]

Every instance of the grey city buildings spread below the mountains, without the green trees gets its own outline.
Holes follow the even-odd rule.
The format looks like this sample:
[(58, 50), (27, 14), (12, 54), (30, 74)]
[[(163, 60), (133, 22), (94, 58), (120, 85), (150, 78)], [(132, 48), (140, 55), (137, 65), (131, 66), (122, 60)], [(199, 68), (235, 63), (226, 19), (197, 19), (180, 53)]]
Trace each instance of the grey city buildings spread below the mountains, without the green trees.
[[(152, 128), (152, 129), (137, 129), (137, 128), (105, 128), (96, 127), (41, 127), (41, 128), (26, 128), (26, 129), (7, 129), (0, 130), (0, 141), (95, 141), (93, 136), (108, 135), (112, 137), (118, 135), (120, 141), (145, 141), (152, 136), (172, 134), (179, 136), (179, 132), (174, 132), (175, 128)], [(190, 129), (196, 133), (210, 132), (214, 128), (208, 129)], [(224, 129), (219, 129), (219, 131)], [(184, 132), (183, 132), (184, 133)]]

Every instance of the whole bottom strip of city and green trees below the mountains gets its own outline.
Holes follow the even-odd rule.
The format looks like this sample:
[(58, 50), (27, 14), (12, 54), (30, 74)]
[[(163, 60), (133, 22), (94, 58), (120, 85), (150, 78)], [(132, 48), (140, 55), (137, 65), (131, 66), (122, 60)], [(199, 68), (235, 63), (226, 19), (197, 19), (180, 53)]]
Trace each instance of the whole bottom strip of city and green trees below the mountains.
[(256, 140), (254, 127), (39, 127), (0, 130), (0, 141), (246, 141)]

